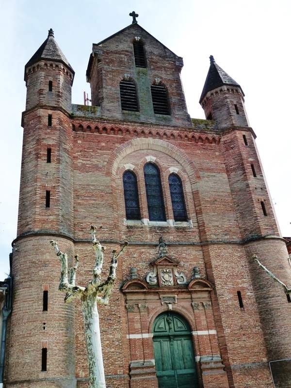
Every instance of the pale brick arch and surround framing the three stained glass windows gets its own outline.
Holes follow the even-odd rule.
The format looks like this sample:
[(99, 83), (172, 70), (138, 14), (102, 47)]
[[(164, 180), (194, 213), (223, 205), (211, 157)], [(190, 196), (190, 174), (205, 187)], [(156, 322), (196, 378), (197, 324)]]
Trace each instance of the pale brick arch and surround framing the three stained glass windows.
[[(200, 179), (200, 175), (194, 163), (182, 150), (162, 140), (133, 139), (132, 141), (119, 146), (115, 151), (115, 153), (113, 152), (112, 160), (108, 161), (106, 170), (108, 175), (111, 174), (113, 187), (116, 188), (115, 194), (119, 204), (118, 210), (116, 208), (116, 211), (120, 211), (120, 217), (125, 215), (122, 177), (123, 173), (130, 169), (135, 173), (137, 178), (141, 218), (148, 219), (146, 186), (143, 171), (147, 162), (154, 162), (160, 170), (166, 219), (174, 219), (171, 194), (168, 184), (168, 177), (173, 171), (181, 179), (186, 211), (189, 219), (193, 221), (196, 210), (193, 196), (191, 194), (192, 188), (194, 188), (197, 184), (197, 180)], [(142, 158), (140, 157), (141, 152), (144, 153)], [(163, 155), (166, 156), (165, 154), (170, 157), (167, 162), (165, 162), (165, 158), (163, 157)], [(198, 205), (196, 204), (196, 206)]]

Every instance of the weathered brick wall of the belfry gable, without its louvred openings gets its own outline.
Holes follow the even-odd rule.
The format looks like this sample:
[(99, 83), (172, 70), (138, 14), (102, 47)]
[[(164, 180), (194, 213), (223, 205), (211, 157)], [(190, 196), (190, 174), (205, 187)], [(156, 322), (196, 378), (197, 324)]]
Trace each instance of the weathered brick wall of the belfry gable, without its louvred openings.
[[(91, 84), (92, 105), (101, 106), (101, 115), (122, 121), (156, 122), (191, 126), (181, 85), (183, 59), (163, 46), (139, 25), (132, 25), (111, 39), (93, 44), (87, 68)], [(147, 66), (134, 64), (132, 42), (139, 37), (144, 43)], [(121, 111), (119, 82), (130, 76), (139, 96), (139, 112)], [(150, 86), (159, 78), (168, 89), (171, 115), (154, 114)], [(116, 109), (117, 107), (117, 109)]]

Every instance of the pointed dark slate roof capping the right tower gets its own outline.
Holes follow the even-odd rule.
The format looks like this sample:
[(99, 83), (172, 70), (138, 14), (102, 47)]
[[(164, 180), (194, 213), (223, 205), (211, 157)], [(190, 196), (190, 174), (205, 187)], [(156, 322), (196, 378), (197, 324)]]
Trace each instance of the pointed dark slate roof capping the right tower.
[[(210, 55), (210, 67), (199, 102), (203, 100), (205, 95), (210, 92), (210, 90), (219, 88), (223, 85), (239, 86), (241, 88), (241, 86), (236, 81), (234, 81), (233, 78), (231, 78), (220, 66), (216, 64), (213, 56)], [(242, 94), (244, 96), (243, 92)]]

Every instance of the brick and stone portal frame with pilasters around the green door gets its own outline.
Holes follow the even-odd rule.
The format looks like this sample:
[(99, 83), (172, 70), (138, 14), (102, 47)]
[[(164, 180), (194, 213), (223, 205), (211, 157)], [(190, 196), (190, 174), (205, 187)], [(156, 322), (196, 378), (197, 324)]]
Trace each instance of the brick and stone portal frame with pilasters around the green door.
[(196, 369), (203, 388), (228, 388), (228, 381), (212, 311), (213, 287), (206, 279), (196, 278), (188, 285), (150, 286), (134, 278), (121, 288), (127, 309), (130, 388), (158, 388), (152, 326), (162, 312), (172, 310), (183, 316), (192, 330)]

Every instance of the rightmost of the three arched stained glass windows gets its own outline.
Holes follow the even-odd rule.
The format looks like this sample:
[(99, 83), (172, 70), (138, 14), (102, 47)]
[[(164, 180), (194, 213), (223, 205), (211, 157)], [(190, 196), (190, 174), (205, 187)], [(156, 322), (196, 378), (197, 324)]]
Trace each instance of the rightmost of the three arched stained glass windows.
[(187, 221), (187, 211), (184, 200), (183, 186), (177, 174), (169, 175), (169, 186), (175, 221)]

